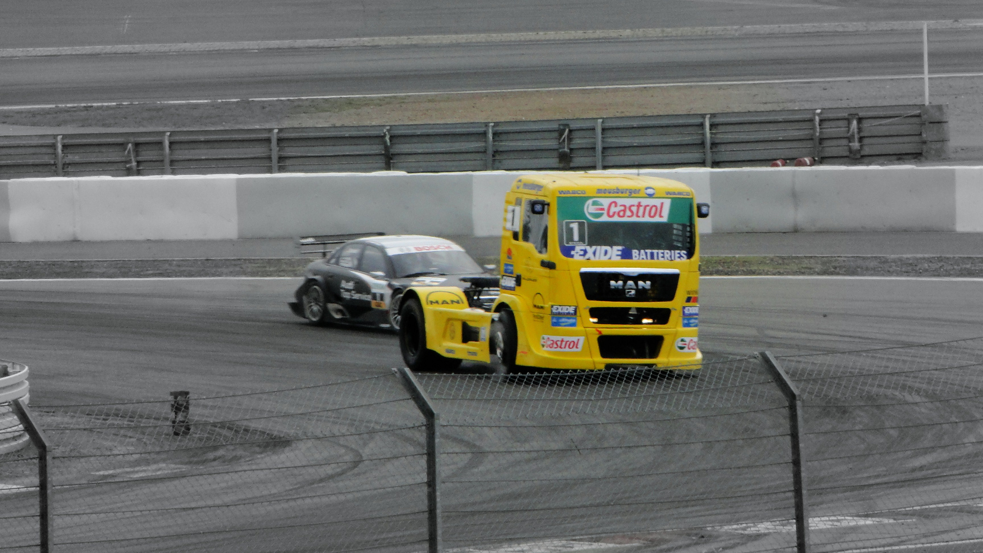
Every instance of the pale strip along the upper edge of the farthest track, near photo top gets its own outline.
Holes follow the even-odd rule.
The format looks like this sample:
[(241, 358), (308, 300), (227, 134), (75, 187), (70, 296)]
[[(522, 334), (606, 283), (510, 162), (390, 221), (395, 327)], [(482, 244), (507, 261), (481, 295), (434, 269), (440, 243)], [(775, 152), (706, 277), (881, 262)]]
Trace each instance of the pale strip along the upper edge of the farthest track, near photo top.
[[(747, 0), (745, 0), (747, 1)], [(756, 2), (761, 3), (761, 2)], [(932, 30), (965, 30), (983, 27), (983, 20), (931, 21)], [(315, 38), (299, 40), (235, 40), (226, 42), (178, 42), (163, 44), (116, 44), (102, 46), (58, 46), (4, 48), (0, 58), (72, 56), (99, 54), (147, 54), (171, 52), (214, 52), (282, 50), (300, 48), (350, 48), (365, 46), (423, 46), (491, 42), (545, 42), (555, 40), (604, 40), (674, 38), (683, 36), (748, 36), (801, 34), (810, 32), (920, 31), (923, 22), (817, 23), (750, 25), (735, 27), (680, 27), (669, 29), (617, 29), (607, 31), (486, 32), (471, 34), (422, 34), (416, 36), (370, 36), (364, 38)]]

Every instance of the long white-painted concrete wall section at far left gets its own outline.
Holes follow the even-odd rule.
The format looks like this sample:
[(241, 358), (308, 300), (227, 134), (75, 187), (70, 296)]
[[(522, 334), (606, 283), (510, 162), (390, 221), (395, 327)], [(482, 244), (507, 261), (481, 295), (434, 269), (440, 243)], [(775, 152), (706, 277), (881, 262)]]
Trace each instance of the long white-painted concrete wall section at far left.
[(23, 179), (8, 188), (15, 242), (237, 237), (234, 177)]

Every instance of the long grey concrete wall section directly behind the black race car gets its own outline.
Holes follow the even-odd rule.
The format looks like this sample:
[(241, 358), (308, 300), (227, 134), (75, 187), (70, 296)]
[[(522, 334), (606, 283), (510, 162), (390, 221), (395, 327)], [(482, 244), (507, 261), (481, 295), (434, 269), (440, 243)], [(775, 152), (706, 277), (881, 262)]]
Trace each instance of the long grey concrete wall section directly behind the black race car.
[(470, 173), (241, 176), (239, 237), (471, 234), (471, 180)]

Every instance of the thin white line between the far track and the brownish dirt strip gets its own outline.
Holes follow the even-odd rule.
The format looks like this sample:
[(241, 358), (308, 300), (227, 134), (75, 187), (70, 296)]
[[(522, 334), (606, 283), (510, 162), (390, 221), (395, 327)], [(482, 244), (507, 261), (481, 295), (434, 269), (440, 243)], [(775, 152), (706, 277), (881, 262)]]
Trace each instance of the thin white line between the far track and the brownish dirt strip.
[[(930, 79), (954, 79), (954, 78), (983, 77), (983, 72), (975, 73), (941, 73), (929, 75)], [(911, 79), (924, 79), (922, 74), (912, 75), (884, 75), (884, 76), (855, 76), (855, 77), (827, 77), (810, 79), (765, 79), (754, 81), (692, 81), (678, 83), (645, 83), (642, 85), (596, 85), (587, 87), (545, 87), (528, 89), (486, 89), (477, 91), (444, 91), (444, 92), (386, 92), (378, 94), (324, 94), (315, 96), (270, 96), (255, 98), (218, 98), (218, 99), (172, 99), (154, 101), (101, 101), (87, 103), (39, 103), (27, 105), (2, 105), (0, 110), (17, 109), (49, 109), (56, 107), (119, 107), (124, 105), (188, 105), (188, 104), (207, 104), (207, 103), (228, 103), (237, 101), (295, 101), (313, 99), (349, 99), (349, 98), (386, 98), (386, 97), (409, 97), (409, 96), (434, 96), (434, 95), (459, 95), (459, 94), (495, 94), (509, 92), (564, 92), (564, 91), (613, 91), (630, 89), (660, 89), (669, 87), (730, 87), (736, 85), (804, 85), (810, 83), (837, 83), (850, 81), (904, 81)]]

